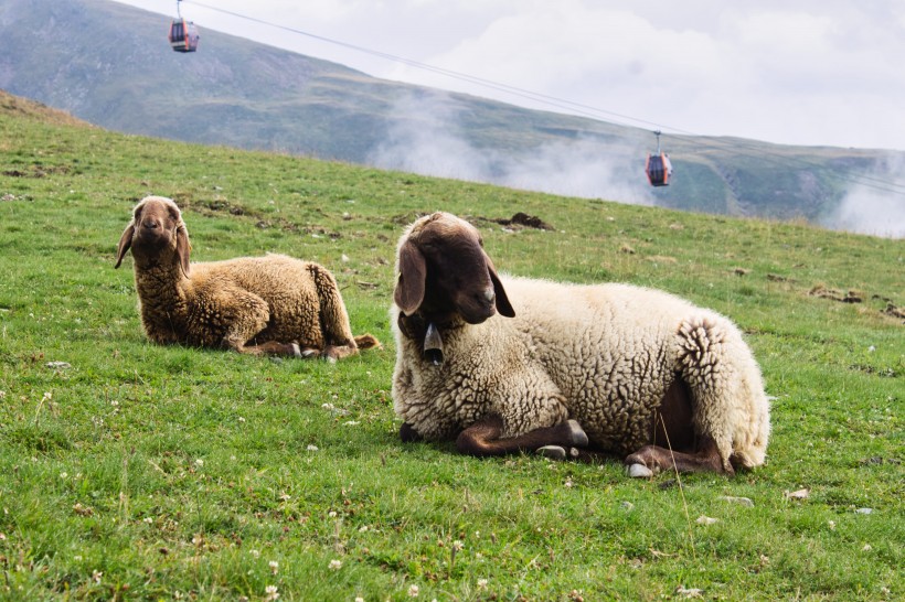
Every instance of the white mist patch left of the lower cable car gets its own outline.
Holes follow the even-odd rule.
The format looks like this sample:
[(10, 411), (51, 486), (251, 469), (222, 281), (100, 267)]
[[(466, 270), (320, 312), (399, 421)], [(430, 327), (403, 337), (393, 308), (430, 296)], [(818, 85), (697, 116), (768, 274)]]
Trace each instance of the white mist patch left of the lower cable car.
[(599, 142), (576, 139), (502, 153), (482, 149), (456, 132), (459, 109), (444, 94), (398, 101), (393, 126), (368, 163), (422, 175), (497, 184), (563, 196), (653, 205), (638, 157), (606, 154)]

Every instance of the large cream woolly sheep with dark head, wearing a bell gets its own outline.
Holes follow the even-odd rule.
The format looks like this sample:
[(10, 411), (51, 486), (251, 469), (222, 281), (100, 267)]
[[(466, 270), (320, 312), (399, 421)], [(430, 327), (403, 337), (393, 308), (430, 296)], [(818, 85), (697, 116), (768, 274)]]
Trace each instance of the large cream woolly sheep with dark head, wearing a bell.
[[(400, 239), (392, 397), (403, 441), (618, 454), (632, 476), (764, 463), (769, 402), (738, 329), (663, 291), (499, 276), (468, 222)], [(586, 449), (579, 449), (586, 448)]]

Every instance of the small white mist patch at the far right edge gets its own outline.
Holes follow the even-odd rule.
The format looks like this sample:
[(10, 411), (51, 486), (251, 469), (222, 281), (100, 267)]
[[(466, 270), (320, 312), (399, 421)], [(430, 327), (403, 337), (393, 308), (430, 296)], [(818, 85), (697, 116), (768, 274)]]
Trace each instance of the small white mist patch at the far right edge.
[(905, 155), (888, 155), (865, 174), (876, 183), (855, 184), (824, 227), (886, 238), (905, 238)]

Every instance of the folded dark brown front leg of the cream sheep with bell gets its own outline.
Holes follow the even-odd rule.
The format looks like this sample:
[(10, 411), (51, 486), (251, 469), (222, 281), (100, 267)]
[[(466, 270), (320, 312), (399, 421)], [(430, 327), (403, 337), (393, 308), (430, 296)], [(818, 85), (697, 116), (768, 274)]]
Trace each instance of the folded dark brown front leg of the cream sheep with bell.
[(459, 433), (456, 439), (456, 449), (460, 453), (485, 456), (534, 452), (547, 447), (569, 449), (573, 445), (587, 445), (587, 436), (575, 420), (534, 429), (505, 439), (500, 439), (502, 432), (503, 419), (499, 416), (487, 416)]

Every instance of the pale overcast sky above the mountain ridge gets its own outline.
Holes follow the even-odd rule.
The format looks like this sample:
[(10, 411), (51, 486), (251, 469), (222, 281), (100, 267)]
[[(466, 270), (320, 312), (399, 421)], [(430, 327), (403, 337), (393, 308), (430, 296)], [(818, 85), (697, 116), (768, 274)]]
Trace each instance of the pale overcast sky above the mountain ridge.
[[(118, 1), (175, 13), (175, 0)], [(181, 10), (202, 28), (200, 52), (209, 28), (377, 77), (561, 112), (568, 101), (664, 132), (905, 150), (902, 0), (185, 0)]]

